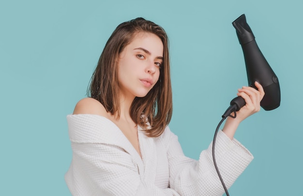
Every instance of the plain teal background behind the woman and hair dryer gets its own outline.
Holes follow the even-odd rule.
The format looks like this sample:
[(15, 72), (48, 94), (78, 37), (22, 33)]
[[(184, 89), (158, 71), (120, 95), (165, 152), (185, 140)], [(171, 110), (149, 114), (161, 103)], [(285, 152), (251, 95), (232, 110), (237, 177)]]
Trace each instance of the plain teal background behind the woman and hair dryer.
[(0, 2), (0, 195), (69, 196), (66, 115), (86, 96), (118, 24), (145, 17), (168, 34), (174, 113), (184, 153), (197, 159), (247, 85), (231, 22), (245, 14), (279, 77), (281, 106), (242, 122), (255, 156), (231, 196), (303, 196), (302, 0), (12, 0)]

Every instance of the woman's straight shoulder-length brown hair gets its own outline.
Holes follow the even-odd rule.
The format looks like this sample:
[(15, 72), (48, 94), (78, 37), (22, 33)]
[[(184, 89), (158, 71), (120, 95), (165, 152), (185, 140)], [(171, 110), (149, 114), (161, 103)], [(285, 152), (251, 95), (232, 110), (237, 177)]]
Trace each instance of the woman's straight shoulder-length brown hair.
[[(158, 82), (145, 97), (136, 97), (130, 108), (132, 120), (140, 125), (150, 137), (160, 136), (172, 116), (172, 92), (170, 82), (168, 38), (165, 30), (155, 23), (136, 18), (121, 23), (111, 34), (97, 67), (93, 72), (90, 84), (90, 96), (98, 100), (107, 112), (120, 117), (118, 91), (118, 58), (138, 32), (150, 32), (157, 35), (163, 43), (163, 64), (160, 68)], [(144, 114), (144, 115), (142, 115)], [(144, 117), (144, 118), (142, 118)], [(150, 126), (146, 122), (149, 122)]]

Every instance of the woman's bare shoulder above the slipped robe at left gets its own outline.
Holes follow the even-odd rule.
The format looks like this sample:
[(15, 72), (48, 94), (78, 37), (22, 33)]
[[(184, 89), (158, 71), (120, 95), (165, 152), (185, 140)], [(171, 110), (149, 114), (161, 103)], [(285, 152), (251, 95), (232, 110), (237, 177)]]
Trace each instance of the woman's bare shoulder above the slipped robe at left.
[(93, 98), (81, 99), (75, 106), (73, 114), (96, 114), (106, 117), (108, 114), (105, 107)]

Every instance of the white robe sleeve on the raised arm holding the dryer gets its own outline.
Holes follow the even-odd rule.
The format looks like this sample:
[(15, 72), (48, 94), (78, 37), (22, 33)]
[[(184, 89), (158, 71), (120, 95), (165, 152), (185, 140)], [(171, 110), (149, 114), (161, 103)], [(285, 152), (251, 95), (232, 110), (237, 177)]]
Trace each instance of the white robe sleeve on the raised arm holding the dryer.
[[(163, 136), (169, 163), (169, 183), (182, 196), (221, 196), (225, 193), (212, 160), (212, 143), (200, 153), (199, 160), (185, 157), (178, 137), (169, 128)], [(236, 139), (218, 132), (216, 163), (227, 189), (253, 160), (253, 155)]]

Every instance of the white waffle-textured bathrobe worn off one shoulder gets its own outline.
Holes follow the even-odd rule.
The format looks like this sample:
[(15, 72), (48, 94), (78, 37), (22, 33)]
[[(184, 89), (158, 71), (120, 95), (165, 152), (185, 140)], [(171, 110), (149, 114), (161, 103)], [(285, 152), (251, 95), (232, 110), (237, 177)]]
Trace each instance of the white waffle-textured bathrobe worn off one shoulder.
[[(159, 137), (138, 128), (140, 155), (112, 121), (98, 115), (67, 116), (73, 160), (65, 181), (73, 196), (221, 196), (212, 143), (199, 160), (184, 156), (167, 127)], [(236, 139), (219, 131), (216, 162), (229, 188), (252, 161)]]

